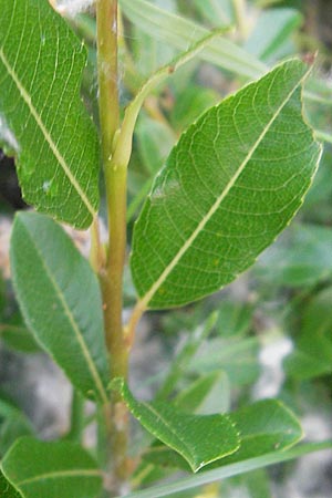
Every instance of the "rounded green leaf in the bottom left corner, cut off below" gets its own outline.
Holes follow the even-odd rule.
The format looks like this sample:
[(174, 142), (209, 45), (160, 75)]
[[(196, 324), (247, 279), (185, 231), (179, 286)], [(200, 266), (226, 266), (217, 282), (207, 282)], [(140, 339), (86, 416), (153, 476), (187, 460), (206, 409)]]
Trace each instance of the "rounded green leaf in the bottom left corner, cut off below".
[(102, 476), (79, 445), (19, 439), (1, 463), (6, 478), (24, 498), (95, 498)]

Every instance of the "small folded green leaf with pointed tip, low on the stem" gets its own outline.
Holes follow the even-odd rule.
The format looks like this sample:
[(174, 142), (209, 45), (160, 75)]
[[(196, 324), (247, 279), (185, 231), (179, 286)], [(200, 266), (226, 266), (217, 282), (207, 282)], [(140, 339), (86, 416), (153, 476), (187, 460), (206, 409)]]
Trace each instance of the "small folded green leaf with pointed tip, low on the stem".
[(194, 471), (239, 447), (238, 434), (226, 415), (190, 415), (169, 403), (137, 402), (122, 380), (112, 388), (121, 392), (132, 414), (164, 444), (179, 453)]

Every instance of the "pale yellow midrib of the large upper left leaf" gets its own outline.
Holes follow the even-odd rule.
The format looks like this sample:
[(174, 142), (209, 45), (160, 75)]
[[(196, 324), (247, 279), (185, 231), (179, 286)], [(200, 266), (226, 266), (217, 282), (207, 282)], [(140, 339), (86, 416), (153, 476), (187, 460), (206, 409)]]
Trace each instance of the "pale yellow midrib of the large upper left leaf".
[(34, 117), (34, 121), (35, 121), (38, 127), (41, 129), (41, 132), (42, 132), (46, 143), (49, 144), (49, 146), (50, 146), (54, 157), (56, 158), (58, 163), (61, 165), (61, 167), (62, 167), (64, 174), (66, 175), (68, 179), (70, 180), (71, 185), (74, 187), (74, 189), (76, 190), (76, 193), (81, 197), (83, 204), (86, 206), (89, 212), (92, 216), (94, 216), (95, 215), (95, 210), (94, 210), (92, 204), (90, 203), (90, 200), (89, 200), (87, 196), (85, 195), (84, 190), (82, 189), (81, 185), (79, 184), (79, 181), (76, 180), (76, 178), (72, 174), (69, 165), (66, 164), (66, 160), (64, 159), (64, 157), (62, 156), (62, 154), (58, 149), (56, 144), (54, 143), (52, 136), (48, 132), (48, 128), (44, 125), (41, 116), (39, 115), (37, 108), (32, 104), (31, 96), (30, 96), (29, 92), (25, 90), (25, 87), (21, 83), (21, 81), (20, 81), (19, 76), (17, 75), (17, 73), (14, 72), (14, 70), (11, 68), (8, 59), (6, 58), (6, 55), (3, 53), (2, 48), (0, 48), (0, 59), (1, 59), (4, 68), (7, 69), (8, 74), (10, 75), (10, 77), (12, 79), (14, 84), (17, 85), (17, 89), (19, 90), (21, 97), (23, 98), (23, 101), (28, 105), (30, 113)]

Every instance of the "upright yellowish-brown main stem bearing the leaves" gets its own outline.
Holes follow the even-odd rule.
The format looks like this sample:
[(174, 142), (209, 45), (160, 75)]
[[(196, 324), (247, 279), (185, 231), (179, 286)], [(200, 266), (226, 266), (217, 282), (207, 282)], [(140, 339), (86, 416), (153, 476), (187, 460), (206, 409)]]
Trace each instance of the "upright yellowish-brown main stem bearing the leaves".
[[(128, 352), (124, 341), (123, 268), (126, 248), (126, 165), (114, 162), (114, 144), (120, 128), (117, 89), (117, 0), (97, 0), (97, 68), (102, 154), (108, 216), (108, 253), (101, 269), (105, 340), (111, 377), (127, 376)], [(112, 394), (112, 435), (110, 459), (113, 489), (121, 494), (127, 478), (127, 409), (121, 397)]]

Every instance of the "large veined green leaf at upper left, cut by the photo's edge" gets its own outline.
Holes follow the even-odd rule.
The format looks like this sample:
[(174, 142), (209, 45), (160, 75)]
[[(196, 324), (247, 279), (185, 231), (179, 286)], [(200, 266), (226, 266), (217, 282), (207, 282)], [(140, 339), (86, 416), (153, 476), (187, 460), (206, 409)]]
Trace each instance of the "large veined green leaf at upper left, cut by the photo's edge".
[(86, 51), (44, 0), (0, 0), (0, 141), (14, 149), (24, 199), (87, 228), (100, 147), (80, 98)]

